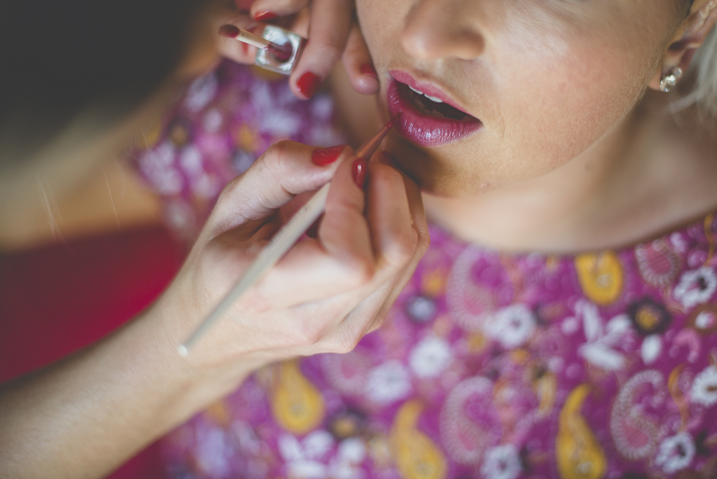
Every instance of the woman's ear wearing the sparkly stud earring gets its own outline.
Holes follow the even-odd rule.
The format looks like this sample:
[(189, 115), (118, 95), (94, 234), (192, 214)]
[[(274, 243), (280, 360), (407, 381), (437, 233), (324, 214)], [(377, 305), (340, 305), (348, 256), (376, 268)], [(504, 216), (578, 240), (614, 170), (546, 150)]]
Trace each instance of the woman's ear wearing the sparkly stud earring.
[(660, 80), (666, 73), (677, 68), (686, 72), (693, 55), (705, 42), (716, 20), (717, 0), (695, 0), (690, 8), (690, 14), (670, 40), (663, 61), (648, 86), (653, 90), (660, 90)]

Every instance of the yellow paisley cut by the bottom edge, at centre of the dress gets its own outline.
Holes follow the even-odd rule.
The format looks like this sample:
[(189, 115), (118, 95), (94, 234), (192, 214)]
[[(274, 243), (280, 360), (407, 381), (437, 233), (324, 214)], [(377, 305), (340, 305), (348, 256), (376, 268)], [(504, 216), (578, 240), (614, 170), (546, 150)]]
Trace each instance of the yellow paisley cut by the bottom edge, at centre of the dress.
[(417, 427), (422, 409), (422, 404), (412, 399), (396, 413), (391, 430), (396, 463), (402, 478), (444, 479), (447, 470), (443, 453)]

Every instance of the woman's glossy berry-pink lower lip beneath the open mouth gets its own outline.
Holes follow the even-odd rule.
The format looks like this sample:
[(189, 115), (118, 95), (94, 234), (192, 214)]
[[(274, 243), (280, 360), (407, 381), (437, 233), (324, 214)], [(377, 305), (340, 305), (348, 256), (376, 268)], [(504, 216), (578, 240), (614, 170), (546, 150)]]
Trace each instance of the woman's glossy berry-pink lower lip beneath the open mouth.
[(391, 118), (399, 116), (394, 128), (412, 143), (427, 148), (447, 145), (472, 135), (483, 125), (476, 118), (451, 120), (424, 115), (407, 98), (406, 93), (402, 91), (404, 89), (407, 90), (408, 87), (399, 85), (399, 82), (390, 78), (386, 98)]

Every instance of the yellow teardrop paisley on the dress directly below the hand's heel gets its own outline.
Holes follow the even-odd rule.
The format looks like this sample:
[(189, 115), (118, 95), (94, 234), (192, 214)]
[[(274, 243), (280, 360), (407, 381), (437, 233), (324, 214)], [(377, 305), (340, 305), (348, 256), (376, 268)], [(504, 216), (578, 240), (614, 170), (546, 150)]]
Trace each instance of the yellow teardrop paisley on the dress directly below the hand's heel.
[(319, 390), (301, 373), (297, 361), (282, 363), (277, 374), (272, 397), (276, 422), (295, 435), (315, 429), (325, 412)]

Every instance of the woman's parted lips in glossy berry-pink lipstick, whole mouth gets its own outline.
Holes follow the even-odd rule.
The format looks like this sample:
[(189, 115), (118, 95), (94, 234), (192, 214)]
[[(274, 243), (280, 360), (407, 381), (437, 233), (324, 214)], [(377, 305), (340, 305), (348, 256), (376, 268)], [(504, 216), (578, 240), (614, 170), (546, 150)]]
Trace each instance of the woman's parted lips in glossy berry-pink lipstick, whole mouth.
[(407, 140), (428, 148), (462, 140), (483, 123), (460, 108), (440, 88), (419, 82), (402, 70), (389, 72), (386, 100), (396, 130)]

